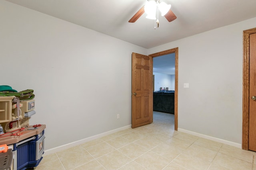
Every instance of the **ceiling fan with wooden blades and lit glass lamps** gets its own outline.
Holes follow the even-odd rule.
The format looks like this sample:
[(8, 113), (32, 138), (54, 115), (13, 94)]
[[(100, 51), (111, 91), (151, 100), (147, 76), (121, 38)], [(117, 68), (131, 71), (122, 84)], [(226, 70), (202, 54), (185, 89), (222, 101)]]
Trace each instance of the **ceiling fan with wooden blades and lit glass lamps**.
[(157, 20), (156, 23), (159, 26), (158, 21), (158, 10), (160, 10), (162, 16), (164, 16), (169, 22), (175, 20), (177, 17), (175, 14), (170, 10), (171, 5), (167, 5), (165, 2), (162, 2), (162, 0), (148, 0), (148, 2), (136, 12), (136, 14), (128, 21), (131, 23), (134, 23), (135, 21), (146, 12), (148, 16), (146, 18), (154, 19), (156, 20), (156, 12), (157, 12)]

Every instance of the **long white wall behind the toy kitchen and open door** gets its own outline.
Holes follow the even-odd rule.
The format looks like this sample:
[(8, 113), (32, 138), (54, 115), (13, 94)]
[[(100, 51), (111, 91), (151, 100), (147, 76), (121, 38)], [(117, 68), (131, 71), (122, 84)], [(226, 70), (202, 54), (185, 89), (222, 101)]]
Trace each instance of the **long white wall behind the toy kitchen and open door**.
[(46, 124), (46, 149), (131, 124), (131, 54), (146, 49), (6, 1), (0, 6), (0, 85), (34, 90), (30, 125)]

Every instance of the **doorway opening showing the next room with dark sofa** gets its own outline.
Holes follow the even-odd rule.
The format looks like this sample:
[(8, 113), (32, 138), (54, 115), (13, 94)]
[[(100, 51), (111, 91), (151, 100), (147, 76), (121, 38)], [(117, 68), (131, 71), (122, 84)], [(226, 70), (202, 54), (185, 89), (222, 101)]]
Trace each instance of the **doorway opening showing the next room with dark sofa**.
[[(175, 53), (153, 58), (153, 119), (165, 115), (174, 129)], [(172, 117), (172, 118), (169, 118)], [(167, 121), (169, 120), (169, 121)]]

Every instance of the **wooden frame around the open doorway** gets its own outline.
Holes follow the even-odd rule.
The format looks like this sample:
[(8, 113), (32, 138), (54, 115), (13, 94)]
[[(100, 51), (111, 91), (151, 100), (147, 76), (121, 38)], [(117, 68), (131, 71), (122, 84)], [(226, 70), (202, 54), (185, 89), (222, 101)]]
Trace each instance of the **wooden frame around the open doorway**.
[(171, 53), (175, 53), (174, 130), (178, 131), (178, 47), (150, 54), (149, 56), (154, 58)]

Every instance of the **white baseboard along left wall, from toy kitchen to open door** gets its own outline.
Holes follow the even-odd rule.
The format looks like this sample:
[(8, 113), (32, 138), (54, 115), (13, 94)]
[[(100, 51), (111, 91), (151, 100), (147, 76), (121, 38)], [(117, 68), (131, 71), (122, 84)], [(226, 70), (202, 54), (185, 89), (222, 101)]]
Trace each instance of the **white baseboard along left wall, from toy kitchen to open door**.
[(129, 129), (130, 127), (132, 127), (132, 125), (127, 125), (127, 126), (124, 126), (124, 127), (120, 127), (118, 129), (114, 129), (114, 130), (111, 130), (111, 131), (100, 133), (98, 135), (94, 135), (94, 136), (91, 136), (91, 137), (88, 137), (88, 138), (85, 138), (85, 139), (81, 139), (79, 141), (68, 143), (66, 145), (62, 145), (62, 146), (59, 146), (59, 147), (55, 147), (55, 148), (52, 148), (52, 149), (45, 150), (44, 151), (44, 156), (49, 155), (49, 154), (53, 154), (53, 153), (56, 153), (56, 152), (60, 152), (60, 151), (65, 150), (65, 149), (69, 149), (69, 148), (81, 145), (83, 143), (93, 141), (95, 139), (99, 139), (101, 137), (104, 137), (106, 135), (110, 135), (112, 133), (116, 133), (116, 132), (119, 132), (119, 131), (122, 131), (122, 130), (125, 130), (125, 129)]

